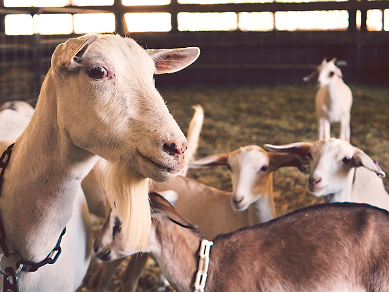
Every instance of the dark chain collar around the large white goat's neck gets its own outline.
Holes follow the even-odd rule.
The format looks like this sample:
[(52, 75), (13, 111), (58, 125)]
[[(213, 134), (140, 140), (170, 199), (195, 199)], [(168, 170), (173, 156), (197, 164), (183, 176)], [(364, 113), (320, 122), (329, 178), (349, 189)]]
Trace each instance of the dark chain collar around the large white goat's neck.
[[(1, 171), (0, 171), (0, 191), (1, 191), (1, 186), (3, 183), (4, 170), (9, 163), (9, 159), (11, 157), (13, 146), (14, 146), (14, 144), (11, 144), (10, 146), (8, 146), (8, 148), (3, 152), (3, 154), (0, 157), (0, 168), (1, 168)], [(0, 195), (1, 195), (1, 193), (0, 193)], [(0, 214), (0, 218), (1, 218), (1, 214)], [(33, 261), (28, 261), (28, 260), (22, 259), (21, 256), (18, 254), (18, 252), (10, 251), (8, 249), (7, 244), (5, 242), (6, 236), (5, 236), (5, 231), (4, 231), (4, 225), (3, 225), (2, 220), (0, 219), (0, 247), (2, 249), (2, 254), (0, 254), (0, 263), (1, 263), (1, 258), (3, 256), (9, 257), (10, 255), (13, 255), (13, 256), (18, 257), (18, 261), (16, 263), (16, 265), (18, 266), (18, 269), (16, 271), (14, 270), (13, 267), (6, 267), (3, 270), (3, 269), (1, 269), (1, 265), (0, 265), (0, 273), (4, 275), (4, 287), (3, 288), (5, 288), (6, 282), (9, 281), (8, 280), (9, 277), (14, 279), (13, 280), (14, 284), (15, 284), (15, 282), (17, 284), (18, 279), (17, 279), (16, 274), (20, 273), (20, 271), (35, 272), (37, 269), (39, 269), (43, 265), (55, 263), (55, 261), (58, 259), (58, 256), (61, 254), (60, 244), (61, 244), (61, 240), (62, 240), (62, 237), (65, 234), (65, 232), (66, 232), (66, 227), (62, 230), (61, 235), (59, 236), (57, 243), (55, 244), (55, 247), (53, 248), (53, 250), (45, 257), (45, 259), (41, 260), (40, 262), (35, 263)], [(12, 285), (12, 283), (11, 283), (11, 285)], [(11, 290), (11, 291), (14, 291), (14, 290)], [(18, 291), (18, 289), (16, 291)]]

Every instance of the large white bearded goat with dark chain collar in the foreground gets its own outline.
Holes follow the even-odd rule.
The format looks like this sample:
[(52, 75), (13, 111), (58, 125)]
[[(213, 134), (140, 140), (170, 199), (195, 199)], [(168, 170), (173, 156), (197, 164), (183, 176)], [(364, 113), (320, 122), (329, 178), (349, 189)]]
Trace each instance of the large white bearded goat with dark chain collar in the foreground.
[[(0, 209), (7, 246), (25, 260), (41, 261), (65, 226), (67, 232), (54, 265), (18, 274), (20, 291), (74, 291), (81, 284), (92, 238), (80, 183), (97, 155), (123, 164), (140, 185), (144, 177), (170, 179), (184, 166), (185, 136), (155, 89), (153, 74), (178, 71), (198, 54), (198, 48), (147, 51), (117, 35), (85, 35), (57, 46), (31, 122), (5, 169)], [(8, 137), (4, 125), (12, 116), (20, 114), (0, 112), (0, 139)], [(118, 201), (123, 196), (130, 200), (134, 194), (117, 194)], [(148, 208), (147, 193), (135, 196)], [(137, 207), (144, 209), (132, 209)], [(150, 218), (150, 210), (143, 214)], [(139, 219), (146, 219), (142, 230), (127, 240), (134, 246), (142, 244), (138, 235), (147, 228), (147, 218)]]

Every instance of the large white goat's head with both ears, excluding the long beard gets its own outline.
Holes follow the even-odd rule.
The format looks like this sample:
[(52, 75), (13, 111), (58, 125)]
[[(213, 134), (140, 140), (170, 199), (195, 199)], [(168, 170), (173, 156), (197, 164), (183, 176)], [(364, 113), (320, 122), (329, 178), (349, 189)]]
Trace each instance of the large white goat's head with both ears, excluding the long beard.
[(186, 138), (153, 76), (179, 71), (198, 55), (195, 47), (144, 50), (117, 35), (69, 39), (52, 57), (60, 128), (108, 161), (159, 182), (172, 178), (185, 164)]

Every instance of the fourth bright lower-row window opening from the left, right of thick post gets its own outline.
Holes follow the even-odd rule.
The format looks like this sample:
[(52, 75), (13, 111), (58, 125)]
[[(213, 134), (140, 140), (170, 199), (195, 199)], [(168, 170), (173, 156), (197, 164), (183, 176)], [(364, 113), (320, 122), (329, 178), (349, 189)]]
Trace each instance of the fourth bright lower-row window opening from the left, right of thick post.
[(127, 30), (134, 32), (168, 32), (172, 29), (170, 13), (126, 13)]

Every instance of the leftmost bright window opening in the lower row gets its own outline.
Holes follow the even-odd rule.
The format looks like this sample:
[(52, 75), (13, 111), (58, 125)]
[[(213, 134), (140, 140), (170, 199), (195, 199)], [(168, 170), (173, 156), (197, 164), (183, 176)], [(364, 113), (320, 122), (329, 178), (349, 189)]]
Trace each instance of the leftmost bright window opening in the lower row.
[(5, 34), (8, 36), (33, 35), (34, 23), (30, 14), (9, 14), (5, 16)]

